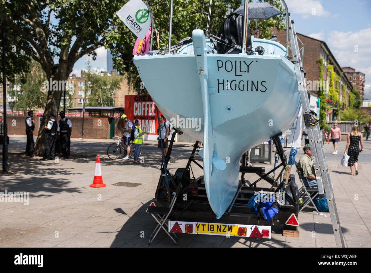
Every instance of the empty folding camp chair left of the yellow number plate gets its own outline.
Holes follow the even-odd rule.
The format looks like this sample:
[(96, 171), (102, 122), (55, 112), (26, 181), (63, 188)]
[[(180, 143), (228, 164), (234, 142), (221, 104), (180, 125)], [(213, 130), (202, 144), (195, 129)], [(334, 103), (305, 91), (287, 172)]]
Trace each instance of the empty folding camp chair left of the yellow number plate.
[[(150, 241), (148, 242), (148, 245), (150, 245), (152, 243), (152, 241), (155, 239), (158, 231), (160, 231), (161, 228), (166, 232), (167, 235), (169, 235), (171, 240), (173, 240), (174, 243), (177, 246), (179, 245), (177, 235), (175, 235), (175, 233), (173, 233), (173, 235), (175, 237), (175, 239), (174, 239), (171, 236), (171, 234), (169, 233), (169, 231), (168, 231), (169, 226), (166, 224), (166, 220), (169, 217), (169, 215), (171, 214), (171, 212), (173, 211), (175, 201), (177, 200), (180, 189), (182, 187), (183, 187), (183, 185), (181, 183), (179, 183), (179, 185), (177, 186), (177, 189), (173, 193), (173, 199), (171, 200), (170, 206), (168, 208), (166, 208), (166, 207), (148, 207), (147, 212), (150, 213), (152, 215), (152, 217), (155, 218), (155, 220), (157, 222), (157, 226), (156, 226), (155, 230), (152, 232), (152, 234), (150, 236)], [(160, 218), (160, 221), (157, 219), (155, 214), (157, 214), (158, 218)], [(164, 227), (164, 225), (167, 227), (167, 229)]]

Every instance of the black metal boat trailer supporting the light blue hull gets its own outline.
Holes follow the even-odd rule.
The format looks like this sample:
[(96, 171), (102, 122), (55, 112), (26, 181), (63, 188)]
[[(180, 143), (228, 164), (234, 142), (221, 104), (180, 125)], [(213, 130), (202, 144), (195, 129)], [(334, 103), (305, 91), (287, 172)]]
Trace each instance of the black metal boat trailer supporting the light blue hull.
[[(165, 156), (166, 166), (170, 160), (175, 133), (183, 134), (183, 132), (176, 128), (173, 128), (173, 130), (174, 132), (169, 142), (168, 152)], [(234, 196), (233, 202), (219, 220), (216, 220), (216, 216), (209, 205), (203, 175), (195, 178), (193, 174), (191, 163), (194, 163), (197, 167), (203, 169), (203, 166), (201, 166), (195, 160), (195, 157), (198, 155), (198, 151), (201, 147), (201, 143), (198, 141), (193, 144), (193, 150), (188, 158), (188, 162), (185, 168), (178, 168), (175, 171), (174, 175), (171, 175), (169, 170), (166, 169), (167, 179), (165, 175), (164, 163), (161, 163), (161, 175), (158, 180), (158, 185), (155, 192), (155, 205), (157, 207), (164, 208), (168, 208), (171, 205), (173, 206), (171, 214), (168, 217), (169, 220), (172, 220), (170, 222), (227, 222), (244, 223), (258, 226), (283, 224), (283, 230), (288, 230), (291, 231), (291, 233), (295, 233), (295, 231), (298, 229), (298, 225), (290, 225), (286, 224), (286, 222), (293, 217), (293, 214), (295, 215), (294, 218), (296, 218), (296, 220), (298, 219), (298, 186), (295, 183), (295, 176), (293, 174), (290, 174), (288, 179), (284, 179), (284, 171), (287, 165), (287, 156), (285, 156), (281, 142), (279, 140), (280, 135), (282, 135), (281, 132), (276, 134), (275, 136), (272, 136), (270, 139), (273, 140), (273, 143), (276, 146), (276, 155), (280, 159), (281, 163), (269, 172), (266, 173), (264, 167), (247, 166), (248, 152), (244, 153), (241, 159), (241, 180), (238, 186), (237, 193)], [(271, 176), (272, 172), (274, 173), (279, 168), (282, 168), (282, 170), (280, 170), (279, 172), (279, 175), (276, 177), (274, 175)], [(244, 175), (246, 173), (256, 173), (258, 176), (260, 176), (260, 178), (250, 183), (250, 181), (244, 178)], [(263, 179), (267, 181), (271, 186), (266, 188), (258, 187), (257, 183)], [(177, 192), (178, 198), (176, 199), (175, 204), (171, 204), (173, 195), (175, 194), (175, 191), (177, 189), (179, 190), (178, 185), (180, 184), (180, 191)], [(284, 192), (280, 192), (281, 189), (284, 189)], [(248, 205), (250, 198), (259, 193), (264, 193), (269, 196), (278, 196), (279, 194), (285, 196), (285, 198), (283, 199), (283, 203), (278, 205), (278, 213), (270, 221), (263, 220), (261, 217), (254, 214)], [(179, 220), (180, 217), (181, 220)], [(170, 229), (171, 228), (169, 228), (169, 231)], [(295, 237), (297, 237), (297, 233), (298, 231), (296, 231), (296, 234), (294, 235)]]

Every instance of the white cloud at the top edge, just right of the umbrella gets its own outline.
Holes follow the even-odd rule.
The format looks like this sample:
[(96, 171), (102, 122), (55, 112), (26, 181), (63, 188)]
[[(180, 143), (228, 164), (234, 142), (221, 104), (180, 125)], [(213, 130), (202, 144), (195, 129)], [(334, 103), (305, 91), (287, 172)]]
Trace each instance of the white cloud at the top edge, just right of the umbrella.
[(303, 19), (311, 16), (330, 16), (318, 0), (286, 0), (289, 12), (303, 14)]

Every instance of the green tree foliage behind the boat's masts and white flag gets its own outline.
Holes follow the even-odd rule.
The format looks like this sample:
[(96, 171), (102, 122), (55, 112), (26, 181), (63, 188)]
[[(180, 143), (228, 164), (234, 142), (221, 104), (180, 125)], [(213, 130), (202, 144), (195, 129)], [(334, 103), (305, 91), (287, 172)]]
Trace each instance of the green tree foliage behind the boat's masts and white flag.
[[(262, 1), (262, 0), (259, 0)], [(241, 1), (223, 1), (215, 0), (211, 6), (210, 18), (210, 33), (217, 35), (217, 32), (223, 23), (224, 19), (230, 12), (240, 6)], [(170, 16), (170, 1), (151, 0), (149, 2), (154, 17), (155, 28), (160, 33), (160, 50), (167, 47), (169, 35), (169, 16)], [(280, 1), (273, 0), (270, 4), (280, 8)], [(284, 12), (284, 11), (283, 11)], [(173, 27), (171, 35), (171, 44), (178, 43), (181, 39), (190, 37), (194, 29), (206, 29), (207, 17), (209, 13), (209, 1), (194, 1), (194, 0), (174, 0), (173, 12)], [(141, 90), (141, 79), (139, 78), (137, 68), (132, 63), (132, 49), (137, 37), (128, 29), (127, 26), (116, 16), (112, 14), (115, 27), (105, 35), (111, 42), (108, 47), (113, 55), (114, 68), (120, 74), (125, 74), (128, 86), (131, 90), (142, 93), (147, 92)], [(268, 20), (258, 20), (257, 29), (260, 31), (260, 38), (270, 38), (269, 30), (273, 28), (281, 30), (285, 27), (285, 17), (283, 13), (279, 16)], [(251, 20), (249, 23), (250, 31), (255, 30), (256, 20)], [(157, 48), (156, 35), (154, 32), (154, 44), (152, 49)]]

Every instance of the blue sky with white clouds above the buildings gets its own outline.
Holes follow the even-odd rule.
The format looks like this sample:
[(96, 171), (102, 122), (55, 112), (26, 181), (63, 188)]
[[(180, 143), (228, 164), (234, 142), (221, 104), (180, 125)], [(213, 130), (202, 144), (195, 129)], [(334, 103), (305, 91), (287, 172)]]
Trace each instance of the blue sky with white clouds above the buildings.
[[(351, 66), (366, 74), (365, 98), (371, 99), (371, 0), (286, 0), (286, 3), (296, 32), (324, 40), (341, 66)], [(96, 61), (84, 56), (73, 66), (73, 73), (79, 75), (88, 60), (93, 68), (106, 70), (106, 50), (100, 48), (96, 52)]]

